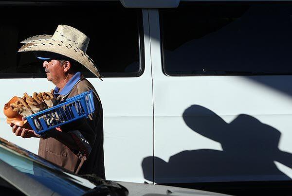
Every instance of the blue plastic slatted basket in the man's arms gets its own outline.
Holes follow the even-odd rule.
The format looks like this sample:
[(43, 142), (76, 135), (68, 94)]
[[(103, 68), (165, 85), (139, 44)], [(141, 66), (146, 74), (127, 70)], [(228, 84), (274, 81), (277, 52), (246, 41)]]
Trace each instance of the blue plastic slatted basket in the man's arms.
[(26, 120), (37, 134), (65, 125), (94, 112), (92, 90), (62, 101), (54, 107), (27, 116)]

